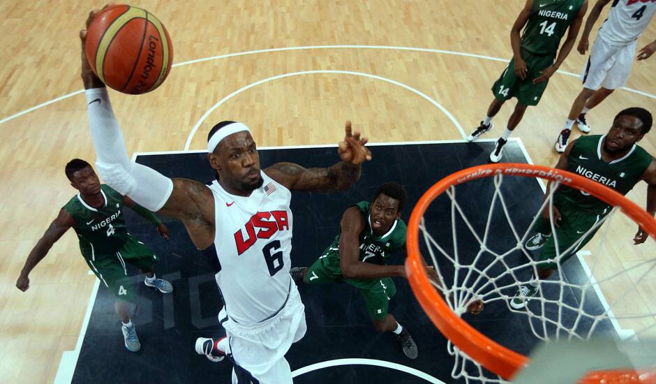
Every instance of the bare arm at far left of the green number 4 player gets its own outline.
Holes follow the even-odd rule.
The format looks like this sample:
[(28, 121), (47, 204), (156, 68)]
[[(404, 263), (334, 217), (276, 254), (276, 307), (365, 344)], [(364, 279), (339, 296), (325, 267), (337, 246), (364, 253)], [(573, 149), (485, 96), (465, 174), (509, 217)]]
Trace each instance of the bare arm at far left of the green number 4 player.
[(45, 255), (47, 255), (50, 248), (52, 248), (52, 244), (57, 242), (61, 235), (64, 235), (64, 232), (73, 226), (75, 226), (73, 216), (70, 216), (70, 214), (66, 212), (66, 209), (62, 208), (59, 211), (57, 219), (54, 219), (52, 223), (50, 223), (48, 229), (45, 230), (43, 236), (36, 243), (32, 251), (29, 253), (29, 256), (27, 256), (25, 265), (20, 271), (20, 276), (16, 281), (16, 287), (18, 289), (24, 292), (29, 288), (29, 272), (31, 272), (31, 270), (36, 267), (43, 258), (45, 258)]

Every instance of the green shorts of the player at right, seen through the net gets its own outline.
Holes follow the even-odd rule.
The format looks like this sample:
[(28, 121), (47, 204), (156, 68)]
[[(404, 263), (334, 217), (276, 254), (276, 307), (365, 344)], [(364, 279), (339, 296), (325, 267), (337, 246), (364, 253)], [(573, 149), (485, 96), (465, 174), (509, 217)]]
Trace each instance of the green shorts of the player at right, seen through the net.
[[(554, 236), (551, 235), (542, 247), (542, 251), (540, 251), (538, 258), (540, 263), (537, 265), (539, 269), (558, 269), (558, 265), (565, 263), (590, 242), (590, 239), (595, 236), (595, 233), (601, 227), (592, 230), (588, 235), (585, 235), (586, 232), (605, 216), (605, 214), (583, 211), (565, 200), (565, 198), (559, 198), (558, 195), (554, 198), (553, 205), (556, 205), (561, 216), (558, 228), (556, 228), (560, 263), (556, 263), (556, 260), (554, 260), (556, 258), (556, 242)], [(540, 223), (538, 222), (537, 225), (540, 225)], [(571, 246), (573, 246), (572, 249), (565, 253)]]

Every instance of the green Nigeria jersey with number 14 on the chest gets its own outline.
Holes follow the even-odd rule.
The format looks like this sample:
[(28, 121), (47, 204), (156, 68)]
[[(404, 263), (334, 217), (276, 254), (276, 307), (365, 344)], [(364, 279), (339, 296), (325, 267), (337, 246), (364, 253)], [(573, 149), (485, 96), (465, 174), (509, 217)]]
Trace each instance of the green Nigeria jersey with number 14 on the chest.
[(533, 0), (533, 8), (521, 36), (523, 50), (556, 55), (560, 39), (572, 25), (583, 0)]

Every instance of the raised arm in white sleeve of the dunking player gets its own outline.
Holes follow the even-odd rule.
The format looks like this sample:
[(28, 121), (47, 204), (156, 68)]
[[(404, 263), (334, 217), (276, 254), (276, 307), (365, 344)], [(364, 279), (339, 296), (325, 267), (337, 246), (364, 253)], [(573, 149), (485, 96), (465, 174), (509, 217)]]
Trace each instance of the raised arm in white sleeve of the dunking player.
[[(89, 13), (87, 27), (98, 11)], [(128, 158), (119, 123), (114, 117), (105, 84), (91, 70), (84, 54), (87, 31), (82, 41), (82, 82), (87, 89), (87, 114), (94, 142), (98, 173), (122, 195), (152, 212), (180, 219), (199, 249), (214, 242), (214, 198), (203, 184), (189, 179), (169, 179)]]

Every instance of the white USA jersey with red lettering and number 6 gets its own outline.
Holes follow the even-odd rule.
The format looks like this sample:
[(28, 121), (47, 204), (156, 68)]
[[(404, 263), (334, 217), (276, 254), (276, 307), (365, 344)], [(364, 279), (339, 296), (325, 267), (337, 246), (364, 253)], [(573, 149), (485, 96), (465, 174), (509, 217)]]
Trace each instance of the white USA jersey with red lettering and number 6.
[(250, 196), (231, 195), (214, 181), (214, 278), (225, 311), (237, 323), (260, 323), (281, 309), (292, 284), (292, 193), (260, 171)]

